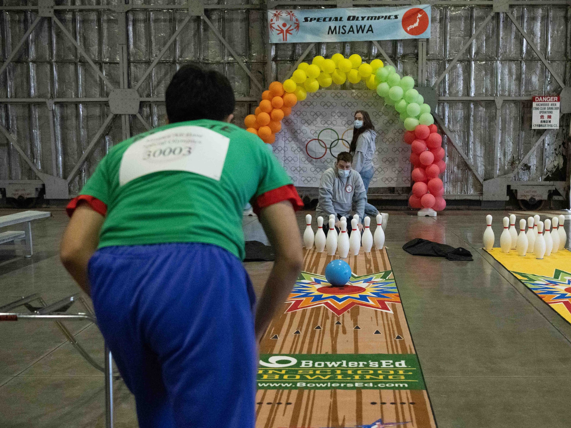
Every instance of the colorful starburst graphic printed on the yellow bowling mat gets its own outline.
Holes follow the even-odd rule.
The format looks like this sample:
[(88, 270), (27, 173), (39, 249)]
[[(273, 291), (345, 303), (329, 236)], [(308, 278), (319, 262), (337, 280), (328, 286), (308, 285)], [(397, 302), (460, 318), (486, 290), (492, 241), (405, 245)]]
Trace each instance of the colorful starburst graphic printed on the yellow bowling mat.
[(556, 269), (553, 278), (513, 272), (548, 305), (563, 303), (571, 312), (571, 273)]

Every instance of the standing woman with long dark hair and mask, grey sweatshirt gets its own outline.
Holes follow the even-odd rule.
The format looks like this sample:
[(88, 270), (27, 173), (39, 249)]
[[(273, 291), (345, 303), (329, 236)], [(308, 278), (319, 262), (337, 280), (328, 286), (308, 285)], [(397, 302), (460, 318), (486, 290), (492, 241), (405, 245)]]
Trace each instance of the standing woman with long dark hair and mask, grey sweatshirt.
[[(367, 111), (357, 110), (353, 122), (353, 138), (349, 152), (353, 155), (353, 169), (361, 175), (365, 192), (369, 190), (369, 182), (373, 178), (373, 155), (375, 155), (375, 138), (377, 132)], [(365, 205), (365, 214), (377, 215), (379, 211), (370, 203)]]

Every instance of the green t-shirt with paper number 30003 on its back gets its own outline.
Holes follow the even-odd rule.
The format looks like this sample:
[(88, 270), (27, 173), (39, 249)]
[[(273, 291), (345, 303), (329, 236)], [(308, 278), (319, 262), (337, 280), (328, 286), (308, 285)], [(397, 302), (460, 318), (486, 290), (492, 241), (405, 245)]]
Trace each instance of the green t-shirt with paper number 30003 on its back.
[(80, 194), (107, 205), (99, 248), (204, 242), (243, 259), (244, 206), (291, 183), (256, 135), (202, 119), (119, 143)]

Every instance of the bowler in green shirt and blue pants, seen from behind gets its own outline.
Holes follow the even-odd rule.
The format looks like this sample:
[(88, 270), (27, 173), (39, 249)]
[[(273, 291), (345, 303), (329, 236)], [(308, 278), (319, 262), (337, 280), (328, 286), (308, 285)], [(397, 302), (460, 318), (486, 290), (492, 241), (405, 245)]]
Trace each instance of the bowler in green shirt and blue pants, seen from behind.
[[(182, 67), (169, 125), (113, 147), (68, 206), (62, 262), (141, 427), (254, 427), (256, 342), (301, 267), (303, 203), (262, 140), (230, 123), (234, 106), (226, 77)], [(248, 202), (276, 254), (257, 307), (241, 263)]]

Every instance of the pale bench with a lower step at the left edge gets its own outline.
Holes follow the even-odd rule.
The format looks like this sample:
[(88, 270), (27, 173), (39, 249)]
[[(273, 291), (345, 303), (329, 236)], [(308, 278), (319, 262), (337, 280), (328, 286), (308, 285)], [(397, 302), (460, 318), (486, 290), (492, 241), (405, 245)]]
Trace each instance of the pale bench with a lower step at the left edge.
[[(32, 226), (31, 222), (39, 218), (51, 217), (51, 213), (46, 211), (23, 211), (22, 213), (8, 214), (0, 216), (0, 227), (18, 225), (25, 223), (24, 230), (9, 230), (0, 233), (0, 251), (23, 250), (25, 257), (31, 257), (32, 247)], [(23, 241), (23, 245), (21, 242)], [(18, 242), (18, 244), (10, 244)]]

